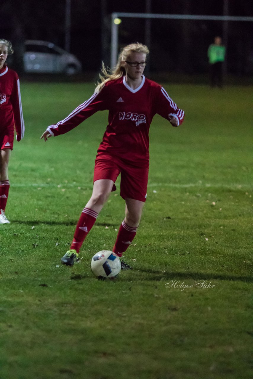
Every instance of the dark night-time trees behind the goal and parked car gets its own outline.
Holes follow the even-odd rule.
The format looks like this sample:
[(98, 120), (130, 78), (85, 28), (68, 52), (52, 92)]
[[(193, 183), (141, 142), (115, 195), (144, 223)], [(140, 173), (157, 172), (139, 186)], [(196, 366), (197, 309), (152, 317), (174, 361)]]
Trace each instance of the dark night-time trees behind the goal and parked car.
[[(97, 72), (101, 60), (110, 64), (110, 14), (145, 12), (146, 1), (71, 0), (71, 52), (83, 71)], [(151, 0), (152, 13), (223, 15), (220, 0)], [(253, 1), (228, 0), (230, 16), (252, 16)], [(2, 0), (0, 38), (10, 39), (15, 49), (13, 65), (22, 72), (23, 42), (41, 39), (64, 48), (65, 0)], [(201, 74), (207, 72), (207, 48), (215, 35), (222, 36), (220, 21), (151, 20), (152, 72)], [(145, 43), (145, 20), (123, 18), (119, 46)], [(253, 23), (228, 22), (228, 72), (253, 72)]]

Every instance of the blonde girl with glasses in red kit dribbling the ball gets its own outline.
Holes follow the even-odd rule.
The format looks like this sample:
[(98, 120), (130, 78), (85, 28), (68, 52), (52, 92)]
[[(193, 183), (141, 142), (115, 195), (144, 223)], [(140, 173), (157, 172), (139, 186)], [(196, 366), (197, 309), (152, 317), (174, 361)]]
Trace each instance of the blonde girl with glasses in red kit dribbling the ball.
[[(41, 136), (47, 141), (48, 137), (68, 132), (97, 111), (109, 111), (108, 125), (95, 160), (93, 193), (77, 223), (70, 250), (61, 258), (64, 265), (74, 264), (86, 235), (111, 191), (116, 189), (114, 183), (119, 173), (120, 194), (126, 202), (126, 213), (113, 252), (122, 256), (134, 239), (146, 201), (148, 132), (152, 118), (158, 113), (173, 126), (183, 122), (184, 112), (165, 89), (143, 75), (148, 53), (148, 48), (139, 43), (124, 47), (112, 74), (108, 74), (103, 64), (103, 75), (99, 75), (101, 83), (93, 96), (64, 120), (49, 126)], [(121, 260), (121, 269), (131, 268)]]

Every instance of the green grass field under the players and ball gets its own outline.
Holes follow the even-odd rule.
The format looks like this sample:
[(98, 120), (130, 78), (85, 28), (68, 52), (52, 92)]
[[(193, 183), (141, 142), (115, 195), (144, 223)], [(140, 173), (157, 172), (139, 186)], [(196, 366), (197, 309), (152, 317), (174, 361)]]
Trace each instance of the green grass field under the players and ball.
[(113, 247), (118, 189), (80, 263), (60, 258), (107, 113), (44, 143), (94, 85), (21, 84), (26, 135), (9, 166), (11, 224), (0, 226), (0, 378), (252, 378), (252, 87), (164, 85), (185, 122), (154, 118), (147, 202), (125, 254), (134, 270), (100, 282), (90, 260)]

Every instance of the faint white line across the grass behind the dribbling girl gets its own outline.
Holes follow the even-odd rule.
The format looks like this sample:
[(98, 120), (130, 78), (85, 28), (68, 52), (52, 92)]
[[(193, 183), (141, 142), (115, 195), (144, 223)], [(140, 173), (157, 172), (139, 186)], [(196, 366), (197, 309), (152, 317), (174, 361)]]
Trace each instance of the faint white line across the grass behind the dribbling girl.
[[(55, 187), (55, 188), (92, 188), (92, 183), (11, 183), (11, 187)], [(188, 184), (178, 184), (178, 183), (150, 183), (148, 187), (174, 187), (174, 188), (189, 188), (189, 187), (198, 187), (198, 188), (231, 188), (231, 189), (240, 189), (240, 188), (251, 188), (252, 186), (246, 184), (222, 184), (222, 183), (188, 183)]]

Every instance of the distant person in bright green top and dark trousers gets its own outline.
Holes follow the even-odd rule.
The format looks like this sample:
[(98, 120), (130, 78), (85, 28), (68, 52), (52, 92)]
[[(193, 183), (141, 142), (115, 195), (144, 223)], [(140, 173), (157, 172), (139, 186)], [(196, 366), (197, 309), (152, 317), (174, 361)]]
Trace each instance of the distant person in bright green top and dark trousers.
[(222, 88), (222, 63), (225, 60), (225, 54), (226, 48), (222, 45), (222, 39), (220, 37), (215, 37), (214, 43), (209, 46), (207, 52), (210, 64), (210, 83), (212, 87), (217, 85)]

